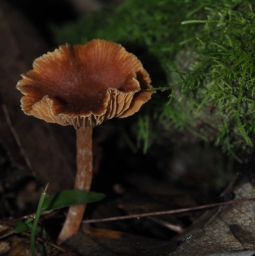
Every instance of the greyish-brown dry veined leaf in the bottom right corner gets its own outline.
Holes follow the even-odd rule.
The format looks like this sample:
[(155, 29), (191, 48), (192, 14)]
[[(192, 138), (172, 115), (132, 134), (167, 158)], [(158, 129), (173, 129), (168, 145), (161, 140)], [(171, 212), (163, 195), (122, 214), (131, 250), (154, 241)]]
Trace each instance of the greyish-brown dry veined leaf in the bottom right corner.
[[(254, 198), (252, 183), (244, 177), (233, 190), (235, 199)], [(252, 255), (255, 252), (255, 201), (207, 211), (181, 236), (191, 237), (169, 255)]]

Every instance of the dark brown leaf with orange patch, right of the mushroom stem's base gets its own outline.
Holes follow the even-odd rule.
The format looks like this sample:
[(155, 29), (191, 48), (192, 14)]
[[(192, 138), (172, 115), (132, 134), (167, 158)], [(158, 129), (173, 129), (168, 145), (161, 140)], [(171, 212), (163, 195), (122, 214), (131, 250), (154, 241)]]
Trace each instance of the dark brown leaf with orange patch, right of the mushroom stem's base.
[[(166, 255), (173, 246), (170, 241), (158, 241), (142, 236), (107, 229), (89, 229), (78, 232), (63, 245), (73, 256)], [(158, 254), (157, 254), (158, 253)], [(64, 256), (61, 254), (60, 256)]]

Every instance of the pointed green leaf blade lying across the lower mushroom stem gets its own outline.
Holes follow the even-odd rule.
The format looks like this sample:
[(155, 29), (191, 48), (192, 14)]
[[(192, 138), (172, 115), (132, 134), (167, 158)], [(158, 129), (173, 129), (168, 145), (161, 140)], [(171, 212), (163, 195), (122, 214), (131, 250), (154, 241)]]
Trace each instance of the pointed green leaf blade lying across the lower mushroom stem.
[(89, 204), (103, 199), (105, 195), (84, 190), (62, 190), (51, 195), (43, 202), (42, 211), (59, 209), (62, 207), (75, 206), (78, 204)]

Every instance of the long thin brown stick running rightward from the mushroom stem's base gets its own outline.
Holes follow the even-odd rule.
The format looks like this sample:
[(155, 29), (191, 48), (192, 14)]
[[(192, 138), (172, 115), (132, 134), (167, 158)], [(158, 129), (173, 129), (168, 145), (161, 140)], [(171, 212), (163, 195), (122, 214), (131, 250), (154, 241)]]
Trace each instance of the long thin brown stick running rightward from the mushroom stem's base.
[(231, 200), (228, 202), (205, 204), (204, 206), (195, 206), (195, 207), (175, 209), (175, 210), (170, 210), (170, 211), (156, 211), (154, 213), (141, 213), (138, 215), (101, 218), (101, 219), (96, 219), (96, 220), (84, 220), (82, 223), (112, 222), (113, 220), (128, 220), (128, 219), (132, 219), (132, 218), (143, 218), (143, 217), (148, 217), (148, 216), (172, 215), (174, 213), (186, 213), (187, 211), (197, 211), (197, 210), (201, 210), (201, 209), (207, 209), (207, 208), (212, 208), (212, 207), (216, 207), (216, 206), (224, 206), (226, 204), (237, 204), (240, 202), (247, 202), (247, 201), (252, 201), (252, 200), (255, 200), (255, 198)]

